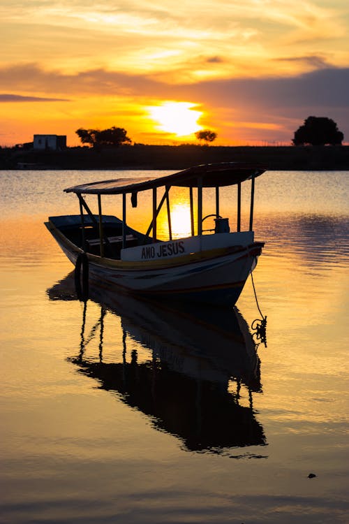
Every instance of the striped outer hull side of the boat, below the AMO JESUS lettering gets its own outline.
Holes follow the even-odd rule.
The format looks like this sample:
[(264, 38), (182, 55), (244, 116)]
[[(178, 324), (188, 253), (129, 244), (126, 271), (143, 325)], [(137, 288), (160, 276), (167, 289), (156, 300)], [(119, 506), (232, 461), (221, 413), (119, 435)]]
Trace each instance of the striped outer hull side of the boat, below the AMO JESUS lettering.
[[(47, 228), (75, 265), (82, 249), (61, 231)], [(87, 253), (89, 281), (107, 290), (138, 296), (188, 300), (232, 307), (255, 268), (262, 242), (209, 249), (161, 261), (117, 261)]]

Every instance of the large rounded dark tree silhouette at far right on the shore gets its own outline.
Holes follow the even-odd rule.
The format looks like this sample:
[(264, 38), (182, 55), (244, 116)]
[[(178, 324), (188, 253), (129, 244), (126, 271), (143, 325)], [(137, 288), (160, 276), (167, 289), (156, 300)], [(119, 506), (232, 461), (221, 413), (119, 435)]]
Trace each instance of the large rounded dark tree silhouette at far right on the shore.
[(292, 142), (294, 145), (341, 145), (343, 138), (343, 133), (331, 118), (308, 117), (295, 131)]

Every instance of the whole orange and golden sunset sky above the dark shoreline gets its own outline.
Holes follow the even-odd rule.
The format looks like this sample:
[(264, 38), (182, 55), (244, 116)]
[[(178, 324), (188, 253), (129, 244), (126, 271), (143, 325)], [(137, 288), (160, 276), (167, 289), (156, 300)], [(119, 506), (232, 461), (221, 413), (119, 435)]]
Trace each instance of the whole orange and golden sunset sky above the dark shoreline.
[(0, 26), (1, 146), (112, 126), (288, 145), (309, 116), (349, 142), (345, 0), (0, 0)]

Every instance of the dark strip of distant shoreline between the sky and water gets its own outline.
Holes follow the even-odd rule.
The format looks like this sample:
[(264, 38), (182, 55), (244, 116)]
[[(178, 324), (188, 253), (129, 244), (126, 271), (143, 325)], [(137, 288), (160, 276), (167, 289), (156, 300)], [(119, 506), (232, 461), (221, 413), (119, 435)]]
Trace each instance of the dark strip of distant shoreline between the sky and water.
[(181, 170), (213, 162), (261, 163), (267, 170), (349, 170), (349, 146), (124, 145), (64, 151), (0, 149), (0, 170)]

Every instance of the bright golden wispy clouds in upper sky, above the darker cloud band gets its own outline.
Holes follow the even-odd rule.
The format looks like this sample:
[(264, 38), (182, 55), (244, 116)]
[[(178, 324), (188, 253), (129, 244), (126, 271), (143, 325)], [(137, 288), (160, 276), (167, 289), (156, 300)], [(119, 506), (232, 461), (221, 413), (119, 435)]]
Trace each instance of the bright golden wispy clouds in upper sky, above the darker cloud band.
[[(316, 0), (193, 0), (175, 9), (170, 0), (122, 5), (22, 0), (3, 3), (0, 16), (6, 36), (3, 64), (35, 57), (44, 67), (53, 64), (64, 71), (101, 67), (182, 82), (239, 77), (246, 68), (250, 75), (270, 75), (274, 59), (288, 54), (290, 45), (295, 56), (311, 56), (314, 45), (326, 42), (329, 64), (344, 66), (349, 60), (348, 13)], [(306, 67), (314, 65), (289, 61), (284, 73)]]

